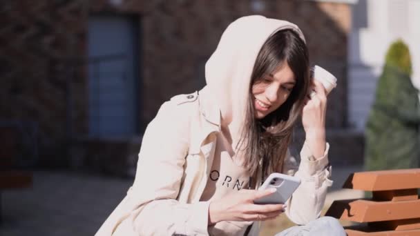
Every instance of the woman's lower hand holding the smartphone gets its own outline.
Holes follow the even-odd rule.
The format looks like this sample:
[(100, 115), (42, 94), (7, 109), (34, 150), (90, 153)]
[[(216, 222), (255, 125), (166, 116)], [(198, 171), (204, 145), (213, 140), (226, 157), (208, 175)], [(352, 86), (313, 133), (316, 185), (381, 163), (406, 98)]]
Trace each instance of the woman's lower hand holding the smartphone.
[(284, 212), (283, 204), (254, 204), (254, 200), (274, 193), (276, 189), (242, 189), (211, 201), (209, 225), (222, 221), (252, 222), (274, 219)]

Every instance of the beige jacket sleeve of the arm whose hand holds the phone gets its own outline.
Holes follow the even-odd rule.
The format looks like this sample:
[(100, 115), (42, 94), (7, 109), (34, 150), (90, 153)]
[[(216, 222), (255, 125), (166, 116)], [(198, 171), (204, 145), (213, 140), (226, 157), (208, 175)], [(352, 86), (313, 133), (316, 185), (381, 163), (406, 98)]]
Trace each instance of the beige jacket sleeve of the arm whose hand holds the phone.
[(135, 181), (117, 207), (124, 210), (114, 219), (113, 235), (208, 235), (209, 202), (175, 200), (184, 175), (191, 117), (186, 114), (191, 109), (180, 112), (176, 106), (171, 101), (163, 104), (144, 132)]

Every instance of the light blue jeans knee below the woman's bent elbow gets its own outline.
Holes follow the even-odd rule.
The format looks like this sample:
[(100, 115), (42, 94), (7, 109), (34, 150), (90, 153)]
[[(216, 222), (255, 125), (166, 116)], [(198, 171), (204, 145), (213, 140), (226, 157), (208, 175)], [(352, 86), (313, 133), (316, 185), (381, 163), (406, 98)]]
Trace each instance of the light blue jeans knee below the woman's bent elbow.
[(320, 217), (305, 224), (283, 230), (275, 236), (346, 236), (343, 226), (333, 217)]

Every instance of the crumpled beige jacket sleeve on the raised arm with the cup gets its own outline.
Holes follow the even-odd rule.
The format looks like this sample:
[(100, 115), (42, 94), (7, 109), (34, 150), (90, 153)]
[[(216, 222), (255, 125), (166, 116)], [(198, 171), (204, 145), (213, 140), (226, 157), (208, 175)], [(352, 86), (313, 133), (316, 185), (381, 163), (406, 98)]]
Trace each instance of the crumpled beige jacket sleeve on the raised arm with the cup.
[[(303, 144), (300, 151), (300, 164), (287, 153), (283, 173), (300, 178), (300, 186), (287, 201), (286, 214), (295, 224), (307, 224), (318, 218), (325, 203), (327, 188), (332, 185), (331, 166), (328, 166), (328, 150), (326, 144), (323, 157), (315, 159)], [(296, 172), (297, 170), (297, 172)]]

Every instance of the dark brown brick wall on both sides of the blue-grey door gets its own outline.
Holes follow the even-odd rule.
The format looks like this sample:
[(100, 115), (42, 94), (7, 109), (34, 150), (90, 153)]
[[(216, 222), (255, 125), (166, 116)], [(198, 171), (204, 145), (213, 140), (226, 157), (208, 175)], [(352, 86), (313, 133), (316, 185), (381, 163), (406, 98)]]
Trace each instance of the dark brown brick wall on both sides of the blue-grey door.
[(166, 99), (199, 89), (203, 64), (231, 21), (264, 14), (300, 26), (312, 63), (338, 77), (327, 124), (345, 127), (350, 6), (298, 0), (262, 3), (265, 8), (255, 12), (245, 0), (8, 1), (0, 6), (0, 120), (37, 121), (40, 144), (47, 147), (57, 146), (69, 133), (87, 134), (89, 14), (129, 14), (140, 21), (141, 127)]

